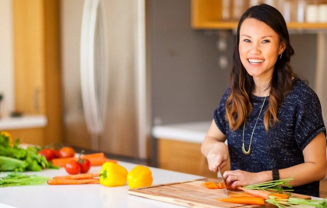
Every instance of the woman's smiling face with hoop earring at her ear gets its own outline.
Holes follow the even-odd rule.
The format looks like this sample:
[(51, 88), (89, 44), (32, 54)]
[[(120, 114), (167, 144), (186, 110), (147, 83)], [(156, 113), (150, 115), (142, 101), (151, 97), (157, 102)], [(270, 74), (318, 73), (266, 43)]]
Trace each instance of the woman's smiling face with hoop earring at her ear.
[(284, 51), (279, 35), (266, 23), (247, 18), (240, 28), (240, 59), (253, 78), (270, 78), (278, 54)]

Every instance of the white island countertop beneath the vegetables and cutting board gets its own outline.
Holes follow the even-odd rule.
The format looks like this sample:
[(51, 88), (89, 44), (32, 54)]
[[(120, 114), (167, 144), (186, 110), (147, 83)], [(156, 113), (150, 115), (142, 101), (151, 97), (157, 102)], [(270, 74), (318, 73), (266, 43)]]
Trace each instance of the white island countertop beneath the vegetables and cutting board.
[[(118, 162), (130, 171), (136, 164)], [(93, 166), (90, 173), (97, 173), (101, 166)], [(179, 173), (150, 167), (153, 185), (189, 181), (203, 178), (197, 175)], [(64, 168), (59, 170), (43, 170), (41, 172), (26, 172), (40, 176), (54, 177), (67, 175)], [(4, 174), (1, 174), (4, 175)], [(0, 188), (0, 208), (64, 208), (64, 207), (181, 207), (161, 201), (131, 196), (127, 193), (129, 187), (106, 187), (101, 184), (84, 185), (35, 185)], [(314, 198), (313, 199), (319, 199)]]

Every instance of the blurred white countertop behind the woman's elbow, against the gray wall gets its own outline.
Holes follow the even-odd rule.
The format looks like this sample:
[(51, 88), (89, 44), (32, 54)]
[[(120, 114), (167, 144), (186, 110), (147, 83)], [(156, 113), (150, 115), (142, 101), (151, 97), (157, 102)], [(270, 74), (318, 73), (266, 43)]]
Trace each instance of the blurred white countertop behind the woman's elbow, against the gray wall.
[(152, 128), (155, 138), (171, 139), (201, 144), (212, 121), (200, 121), (170, 125), (157, 125)]

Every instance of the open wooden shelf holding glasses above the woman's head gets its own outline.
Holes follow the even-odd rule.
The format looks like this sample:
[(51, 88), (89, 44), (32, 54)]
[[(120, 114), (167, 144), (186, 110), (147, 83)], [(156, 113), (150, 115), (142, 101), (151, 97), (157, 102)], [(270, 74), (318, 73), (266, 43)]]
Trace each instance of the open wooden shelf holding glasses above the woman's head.
[[(192, 0), (191, 25), (193, 29), (236, 29), (238, 21), (221, 20), (221, 0)], [(327, 23), (287, 23), (288, 29), (327, 29)]]

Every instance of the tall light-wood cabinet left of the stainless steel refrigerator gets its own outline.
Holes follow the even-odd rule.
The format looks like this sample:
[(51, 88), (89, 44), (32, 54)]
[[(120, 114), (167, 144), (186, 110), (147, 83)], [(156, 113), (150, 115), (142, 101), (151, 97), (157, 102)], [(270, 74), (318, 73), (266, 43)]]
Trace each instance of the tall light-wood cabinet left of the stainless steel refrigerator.
[[(15, 110), (47, 117), (40, 144), (61, 142), (59, 0), (13, 0)], [(28, 137), (29, 130), (20, 131)], [(24, 132), (24, 135), (23, 135)], [(26, 133), (26, 135), (25, 135)]]

